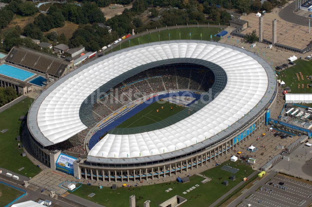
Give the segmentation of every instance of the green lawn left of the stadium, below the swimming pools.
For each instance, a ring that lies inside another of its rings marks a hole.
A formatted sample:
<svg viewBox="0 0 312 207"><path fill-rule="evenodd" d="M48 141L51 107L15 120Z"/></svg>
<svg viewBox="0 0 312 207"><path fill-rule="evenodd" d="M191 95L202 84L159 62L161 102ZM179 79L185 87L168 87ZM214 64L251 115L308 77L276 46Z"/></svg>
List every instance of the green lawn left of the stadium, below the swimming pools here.
<svg viewBox="0 0 312 207"><path fill-rule="evenodd" d="M16 141L21 130L21 121L18 119L26 115L30 101L30 98L24 99L0 113L0 130L8 129L7 132L0 133L0 167L21 175L27 173L27 177L33 177L41 171L27 157L22 157L23 150L17 147L17 144L21 142ZM22 167L25 169L18 171Z"/></svg>

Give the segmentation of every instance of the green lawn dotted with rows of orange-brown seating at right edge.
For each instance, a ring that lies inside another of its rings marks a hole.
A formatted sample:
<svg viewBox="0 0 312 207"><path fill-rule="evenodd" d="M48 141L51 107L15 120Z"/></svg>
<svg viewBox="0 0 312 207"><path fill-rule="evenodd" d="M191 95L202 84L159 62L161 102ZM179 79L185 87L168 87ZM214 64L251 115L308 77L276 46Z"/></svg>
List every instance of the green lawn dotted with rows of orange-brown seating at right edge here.
<svg viewBox="0 0 312 207"><path fill-rule="evenodd" d="M312 93L312 87L307 88L307 84L312 84L311 79L306 79L306 75L312 75L312 61L306 60L295 60L294 66L287 68L278 75L278 79L283 80L285 82L285 86L290 87L290 92L292 94L308 94ZM301 79L299 72L302 73L303 79ZM277 72L278 73L278 72ZM298 73L300 81L298 81L296 73ZM300 84L300 88L298 89L298 84ZM304 89L301 88L301 84L304 84Z"/></svg>

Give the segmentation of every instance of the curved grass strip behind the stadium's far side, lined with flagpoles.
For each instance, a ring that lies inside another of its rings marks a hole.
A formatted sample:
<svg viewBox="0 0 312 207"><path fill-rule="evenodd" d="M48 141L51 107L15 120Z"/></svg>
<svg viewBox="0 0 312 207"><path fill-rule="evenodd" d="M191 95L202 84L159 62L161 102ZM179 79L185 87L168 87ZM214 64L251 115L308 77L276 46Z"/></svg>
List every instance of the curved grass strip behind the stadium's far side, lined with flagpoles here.
<svg viewBox="0 0 312 207"><path fill-rule="evenodd" d="M171 30L163 30L160 32L153 32L151 34L147 34L147 35L137 35L138 37L132 38L129 41L124 41L123 43L121 43L121 46L112 46L112 49L106 49L105 50L105 54L110 53L111 50L113 51L118 51L124 48L127 48L129 46L135 46L135 45L139 45L139 44L145 44L145 43L149 43L149 42L157 42L157 41L165 41L165 40L169 40L169 33L170 33L170 40L208 40L210 41L210 35L212 35L212 40L213 41L219 41L220 38L217 36L214 36L215 34L217 34L219 31L222 31L222 29L220 29L219 27L190 27L190 28L179 28L179 29L171 29ZM191 36L190 36L190 32L191 32ZM202 33L202 37L200 36L200 34ZM180 34L180 35L179 35ZM158 36L159 35L159 36ZM181 36L181 38L180 38ZM227 38L227 37L223 37L223 38Z"/></svg>

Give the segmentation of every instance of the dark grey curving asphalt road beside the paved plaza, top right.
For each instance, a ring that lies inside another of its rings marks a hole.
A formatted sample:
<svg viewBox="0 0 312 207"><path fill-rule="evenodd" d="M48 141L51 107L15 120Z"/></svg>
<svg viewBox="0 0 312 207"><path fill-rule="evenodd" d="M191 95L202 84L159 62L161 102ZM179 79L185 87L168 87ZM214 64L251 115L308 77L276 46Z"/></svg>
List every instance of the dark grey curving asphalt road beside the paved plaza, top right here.
<svg viewBox="0 0 312 207"><path fill-rule="evenodd" d="M297 15L294 13L296 7L296 1L290 3L288 6L280 10L278 13L278 16L285 20L286 22L291 22L294 24L299 24L302 26L308 26L309 25L309 18L303 17L300 15Z"/></svg>

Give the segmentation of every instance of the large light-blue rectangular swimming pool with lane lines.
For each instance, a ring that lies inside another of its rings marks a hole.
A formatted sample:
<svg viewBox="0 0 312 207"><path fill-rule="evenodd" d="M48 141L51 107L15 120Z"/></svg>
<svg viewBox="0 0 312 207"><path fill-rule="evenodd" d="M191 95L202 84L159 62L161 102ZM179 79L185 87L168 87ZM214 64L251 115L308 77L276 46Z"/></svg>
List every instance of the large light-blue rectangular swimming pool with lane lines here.
<svg viewBox="0 0 312 207"><path fill-rule="evenodd" d="M18 69L16 67L2 64L0 65L0 74L9 76L11 78L26 80L27 78L35 75L34 73L28 72L26 70Z"/></svg>

